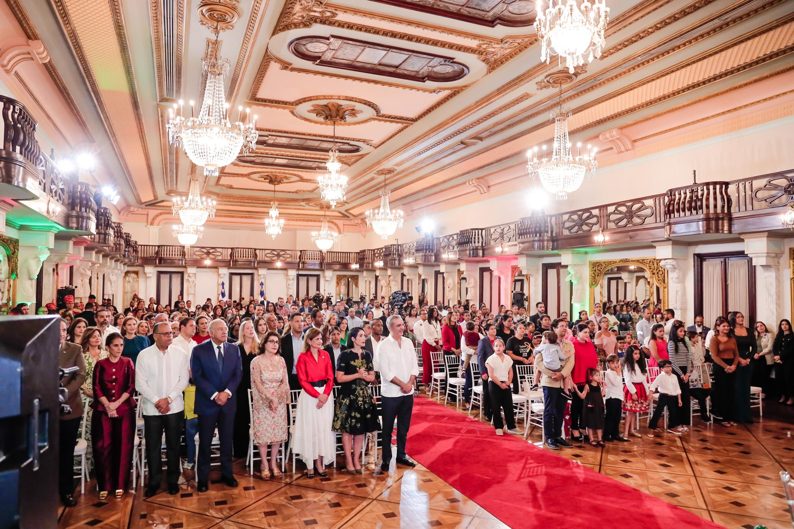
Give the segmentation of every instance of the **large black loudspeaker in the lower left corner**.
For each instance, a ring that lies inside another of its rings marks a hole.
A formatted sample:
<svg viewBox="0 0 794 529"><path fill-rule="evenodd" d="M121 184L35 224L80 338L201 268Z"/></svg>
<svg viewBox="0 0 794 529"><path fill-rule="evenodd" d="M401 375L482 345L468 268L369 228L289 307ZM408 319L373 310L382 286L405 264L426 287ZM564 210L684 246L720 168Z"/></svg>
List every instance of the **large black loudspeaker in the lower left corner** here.
<svg viewBox="0 0 794 529"><path fill-rule="evenodd" d="M58 524L60 318L0 318L0 529Z"/></svg>

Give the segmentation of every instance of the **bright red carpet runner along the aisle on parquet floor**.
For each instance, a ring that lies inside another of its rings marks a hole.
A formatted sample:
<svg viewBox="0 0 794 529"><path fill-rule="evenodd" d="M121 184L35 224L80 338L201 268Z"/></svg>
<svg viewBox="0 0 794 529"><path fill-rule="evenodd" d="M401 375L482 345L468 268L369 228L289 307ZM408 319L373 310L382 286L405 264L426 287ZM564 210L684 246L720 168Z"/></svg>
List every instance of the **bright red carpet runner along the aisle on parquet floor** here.
<svg viewBox="0 0 794 529"><path fill-rule="evenodd" d="M407 452L514 529L721 527L425 397Z"/></svg>

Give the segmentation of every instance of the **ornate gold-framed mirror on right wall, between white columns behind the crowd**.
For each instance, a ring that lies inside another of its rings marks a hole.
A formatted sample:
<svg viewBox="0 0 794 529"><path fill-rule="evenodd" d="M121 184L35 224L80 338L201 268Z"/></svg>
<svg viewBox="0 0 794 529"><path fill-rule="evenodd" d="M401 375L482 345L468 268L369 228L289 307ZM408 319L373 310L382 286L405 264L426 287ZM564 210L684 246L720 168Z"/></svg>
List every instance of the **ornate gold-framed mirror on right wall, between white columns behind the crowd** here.
<svg viewBox="0 0 794 529"><path fill-rule="evenodd" d="M654 304L660 303L662 309L667 308L667 270L665 270L659 259L607 259L603 261L590 261L590 311L592 314L596 302L610 299L617 302L626 296L619 295L620 282L616 281L618 295L616 299L611 299L611 286L607 285L607 297L604 297L604 282L615 278L620 279L626 285L633 286L634 298L642 302L643 299L650 299ZM626 278L630 276L630 282ZM794 283L792 283L794 285ZM596 296L596 287L598 295ZM624 287L625 288L625 287ZM642 289L642 292L640 292ZM626 292L626 290L624 290ZM628 294L626 292L626 294ZM632 296L628 296L632 297Z"/></svg>

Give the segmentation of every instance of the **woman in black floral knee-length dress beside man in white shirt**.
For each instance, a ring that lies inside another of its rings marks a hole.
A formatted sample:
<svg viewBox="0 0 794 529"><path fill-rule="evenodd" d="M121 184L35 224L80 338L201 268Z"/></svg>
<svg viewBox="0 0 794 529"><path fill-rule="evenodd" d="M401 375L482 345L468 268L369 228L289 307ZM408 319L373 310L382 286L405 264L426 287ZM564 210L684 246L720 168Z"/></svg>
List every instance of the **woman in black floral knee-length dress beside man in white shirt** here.
<svg viewBox="0 0 794 529"><path fill-rule="evenodd" d="M341 351L337 358L339 396L333 416L333 431L342 434L345 466L348 473L352 474L364 473L360 461L364 435L380 430L375 401L369 389L370 382L375 380L375 370L372 367L372 355L364 351L366 341L364 329L351 329L348 337L350 349Z"/></svg>

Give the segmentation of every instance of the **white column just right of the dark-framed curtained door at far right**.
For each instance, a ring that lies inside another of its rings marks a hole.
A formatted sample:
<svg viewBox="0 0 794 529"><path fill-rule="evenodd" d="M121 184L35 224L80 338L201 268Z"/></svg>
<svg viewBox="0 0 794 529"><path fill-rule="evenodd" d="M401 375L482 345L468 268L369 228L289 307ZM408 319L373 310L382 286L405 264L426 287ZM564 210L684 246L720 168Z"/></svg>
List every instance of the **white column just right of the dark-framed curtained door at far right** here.
<svg viewBox="0 0 794 529"><path fill-rule="evenodd" d="M745 253L750 255L756 267L755 319L763 321L769 328L777 327L777 322L783 317L780 265L784 240L767 233L747 233L741 237L745 241Z"/></svg>

